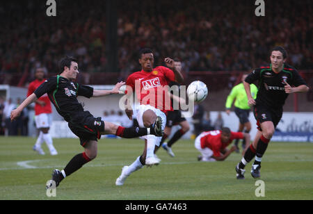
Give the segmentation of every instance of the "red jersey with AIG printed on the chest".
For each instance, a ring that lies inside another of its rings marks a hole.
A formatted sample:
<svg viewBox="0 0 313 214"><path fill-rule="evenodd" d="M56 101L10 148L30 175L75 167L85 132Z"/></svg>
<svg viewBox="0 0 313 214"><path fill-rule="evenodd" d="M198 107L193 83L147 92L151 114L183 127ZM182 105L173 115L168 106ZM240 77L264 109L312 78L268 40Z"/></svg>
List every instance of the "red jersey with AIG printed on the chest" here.
<svg viewBox="0 0 313 214"><path fill-rule="evenodd" d="M171 81L175 81L174 72L167 67L159 66L152 69L152 72L141 70L131 74L126 85L136 92L141 105L154 106L166 113L172 110L167 87Z"/></svg>

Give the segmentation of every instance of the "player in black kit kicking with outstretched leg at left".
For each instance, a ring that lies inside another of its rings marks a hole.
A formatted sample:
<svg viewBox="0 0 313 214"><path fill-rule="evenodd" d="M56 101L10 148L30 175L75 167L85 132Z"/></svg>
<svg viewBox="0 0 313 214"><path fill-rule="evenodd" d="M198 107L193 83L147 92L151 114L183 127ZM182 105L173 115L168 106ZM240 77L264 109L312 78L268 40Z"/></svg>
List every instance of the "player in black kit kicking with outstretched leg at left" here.
<svg viewBox="0 0 313 214"><path fill-rule="evenodd" d="M101 117L93 117L89 111L83 110L77 96L90 98L118 94L120 87L125 83L117 83L113 90L94 90L87 85L72 82L79 73L76 59L66 56L61 59L59 67L61 74L47 79L11 113L11 120L15 120L26 106L47 93L58 113L68 122L72 132L79 137L84 152L74 156L67 163L64 170L54 170L52 181L55 182L56 186L66 176L79 170L84 164L92 161L97 156L97 139L103 134L114 134L122 138L136 138L147 134L163 135L161 118L158 118L150 128L125 128L111 122L104 122ZM53 186L53 182L49 183L47 188L51 188L51 186Z"/></svg>

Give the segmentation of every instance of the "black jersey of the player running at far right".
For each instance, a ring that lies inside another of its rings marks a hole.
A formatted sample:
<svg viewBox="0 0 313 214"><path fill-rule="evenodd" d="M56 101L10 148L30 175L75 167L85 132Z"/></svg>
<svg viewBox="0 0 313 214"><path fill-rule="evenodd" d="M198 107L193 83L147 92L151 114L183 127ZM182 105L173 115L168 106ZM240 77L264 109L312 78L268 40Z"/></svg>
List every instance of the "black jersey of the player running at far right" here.
<svg viewBox="0 0 313 214"><path fill-rule="evenodd" d="M250 84L259 81L257 105L282 108L288 97L288 94L284 92L284 80L291 86L306 85L296 69L287 64L284 64L279 73L275 73L271 65L259 67L249 74L245 81Z"/></svg>

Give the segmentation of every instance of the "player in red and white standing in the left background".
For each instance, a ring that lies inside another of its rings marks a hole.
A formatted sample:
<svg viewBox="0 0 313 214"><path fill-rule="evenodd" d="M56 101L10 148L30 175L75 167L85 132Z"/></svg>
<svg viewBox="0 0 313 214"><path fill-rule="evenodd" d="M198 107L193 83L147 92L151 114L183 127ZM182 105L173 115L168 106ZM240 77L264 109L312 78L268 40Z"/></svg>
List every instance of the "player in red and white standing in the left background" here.
<svg viewBox="0 0 313 214"><path fill-rule="evenodd" d="M29 84L29 90L27 92L27 97L33 94L33 92L45 82L45 72L41 67L35 70L35 80ZM45 152L42 150L42 142L46 142L51 155L57 155L58 152L54 148L53 140L49 134L49 128L51 125L51 104L47 94L44 94L38 100L35 101L35 124L36 128L39 129L40 133L38 136L33 150L37 151L39 154L44 155Z"/></svg>

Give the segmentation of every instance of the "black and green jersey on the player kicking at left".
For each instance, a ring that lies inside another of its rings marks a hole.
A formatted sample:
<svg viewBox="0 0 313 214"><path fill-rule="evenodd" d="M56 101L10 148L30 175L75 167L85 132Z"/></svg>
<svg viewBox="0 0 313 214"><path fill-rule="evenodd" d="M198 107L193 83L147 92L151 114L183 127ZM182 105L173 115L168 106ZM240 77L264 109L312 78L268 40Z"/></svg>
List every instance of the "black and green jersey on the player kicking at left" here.
<svg viewBox="0 0 313 214"><path fill-rule="evenodd" d="M51 76L36 90L37 98L47 93L50 101L56 107L58 113L67 122L83 113L83 106L77 100L77 96L93 97L93 88L87 85L79 85L64 78L63 76Z"/></svg>

